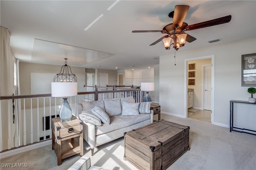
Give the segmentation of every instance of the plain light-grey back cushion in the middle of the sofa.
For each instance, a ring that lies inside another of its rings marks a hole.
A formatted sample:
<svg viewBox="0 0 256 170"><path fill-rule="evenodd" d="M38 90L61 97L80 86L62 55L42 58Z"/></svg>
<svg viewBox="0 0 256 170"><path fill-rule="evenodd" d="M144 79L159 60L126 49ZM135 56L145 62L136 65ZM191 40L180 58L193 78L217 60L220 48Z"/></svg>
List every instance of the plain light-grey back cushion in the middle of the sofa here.
<svg viewBox="0 0 256 170"><path fill-rule="evenodd" d="M109 117L120 115L122 113L122 107L120 99L104 100L105 111Z"/></svg>

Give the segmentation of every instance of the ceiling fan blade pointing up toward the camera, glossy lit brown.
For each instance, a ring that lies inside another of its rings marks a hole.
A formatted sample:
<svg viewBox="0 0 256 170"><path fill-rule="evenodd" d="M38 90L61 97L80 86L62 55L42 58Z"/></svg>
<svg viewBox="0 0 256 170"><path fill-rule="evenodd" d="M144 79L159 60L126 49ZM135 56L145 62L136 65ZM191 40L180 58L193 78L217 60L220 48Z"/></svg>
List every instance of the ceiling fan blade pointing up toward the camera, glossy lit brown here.
<svg viewBox="0 0 256 170"><path fill-rule="evenodd" d="M182 23L188 13L189 6L187 5L176 5L174 8L173 22L172 25L179 27L182 26Z"/></svg>

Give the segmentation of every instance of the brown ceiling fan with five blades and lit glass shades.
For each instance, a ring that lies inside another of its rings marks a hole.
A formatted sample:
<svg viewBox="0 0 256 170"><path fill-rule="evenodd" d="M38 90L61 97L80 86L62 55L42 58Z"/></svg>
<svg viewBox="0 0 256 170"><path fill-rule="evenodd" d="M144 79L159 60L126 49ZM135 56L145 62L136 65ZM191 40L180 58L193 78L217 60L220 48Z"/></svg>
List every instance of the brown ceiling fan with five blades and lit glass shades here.
<svg viewBox="0 0 256 170"><path fill-rule="evenodd" d="M160 41L164 42L165 49L170 49L170 46L173 44L174 49L177 51L180 47L183 47L186 43L191 43L196 40L195 37L188 35L185 31L190 31L194 29L200 29L204 27L210 27L213 25L219 25L222 23L228 23L231 20L231 15L224 16L221 18L216 18L213 20L208 20L200 23L195 23L192 25L188 25L183 22L186 14L188 13L189 6L187 5L176 5L174 11L169 13L169 17L173 18L173 22L166 25L162 30L140 30L140 31L132 31L132 33L143 33L143 32L161 32L166 33L160 39L156 40L154 43L150 45L155 45ZM172 43L171 40L173 39Z"/></svg>

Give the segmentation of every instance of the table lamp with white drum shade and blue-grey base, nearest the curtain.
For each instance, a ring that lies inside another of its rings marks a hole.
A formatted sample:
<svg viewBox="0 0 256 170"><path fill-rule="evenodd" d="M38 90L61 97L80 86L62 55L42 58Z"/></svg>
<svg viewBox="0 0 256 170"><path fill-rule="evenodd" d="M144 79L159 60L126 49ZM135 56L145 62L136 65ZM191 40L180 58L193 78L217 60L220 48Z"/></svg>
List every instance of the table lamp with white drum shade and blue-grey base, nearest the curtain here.
<svg viewBox="0 0 256 170"><path fill-rule="evenodd" d="M52 82L52 97L63 97L64 101L60 106L60 119L62 122L70 121L72 109L68 104L68 96L77 95L77 82Z"/></svg>

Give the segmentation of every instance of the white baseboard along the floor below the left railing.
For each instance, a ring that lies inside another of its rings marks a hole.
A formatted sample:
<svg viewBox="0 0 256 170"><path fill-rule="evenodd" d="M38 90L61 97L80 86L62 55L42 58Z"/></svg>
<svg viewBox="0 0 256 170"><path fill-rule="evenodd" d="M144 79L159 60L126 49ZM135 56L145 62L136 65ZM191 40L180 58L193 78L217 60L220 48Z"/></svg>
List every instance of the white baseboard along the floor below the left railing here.
<svg viewBox="0 0 256 170"><path fill-rule="evenodd" d="M52 145L52 140L47 140L47 141L35 143L35 144L32 144L32 145L28 145L28 146L25 146L25 147L20 147L20 148L17 148L17 149L8 150L6 152L0 153L0 155L1 155L1 158L6 158L6 157L9 157L9 156L13 156L15 154L18 154L18 153L22 153L22 152L26 152L26 151L29 151L29 150L45 147L47 145Z"/></svg>

